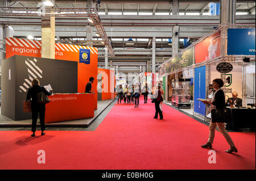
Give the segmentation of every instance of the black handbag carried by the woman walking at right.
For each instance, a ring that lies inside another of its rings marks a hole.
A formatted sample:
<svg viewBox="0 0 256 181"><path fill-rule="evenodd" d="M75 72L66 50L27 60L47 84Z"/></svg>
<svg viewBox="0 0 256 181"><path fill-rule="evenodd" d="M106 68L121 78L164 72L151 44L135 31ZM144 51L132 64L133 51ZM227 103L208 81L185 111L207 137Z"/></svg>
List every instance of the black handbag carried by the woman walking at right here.
<svg viewBox="0 0 256 181"><path fill-rule="evenodd" d="M213 109L210 111L212 115L212 123L232 123L233 116L230 108Z"/></svg>

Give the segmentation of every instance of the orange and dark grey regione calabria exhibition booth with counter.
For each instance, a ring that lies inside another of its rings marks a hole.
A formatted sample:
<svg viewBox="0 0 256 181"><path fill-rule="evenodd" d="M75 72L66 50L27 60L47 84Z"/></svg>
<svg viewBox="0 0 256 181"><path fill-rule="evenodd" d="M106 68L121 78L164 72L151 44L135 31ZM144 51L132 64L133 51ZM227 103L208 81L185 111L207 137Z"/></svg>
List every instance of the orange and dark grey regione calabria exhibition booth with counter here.
<svg viewBox="0 0 256 181"><path fill-rule="evenodd" d="M32 79L38 78L41 86L51 85L54 92L46 104L46 123L94 117L97 66L98 49L94 47L55 43L55 59L41 58L40 41L7 37L6 59L1 65L1 114L15 121L31 119L31 112L23 112L23 100ZM114 77L111 70L106 71ZM85 94L90 77L94 77L94 94ZM110 92L111 86L106 87ZM102 100L110 98L102 92Z"/></svg>

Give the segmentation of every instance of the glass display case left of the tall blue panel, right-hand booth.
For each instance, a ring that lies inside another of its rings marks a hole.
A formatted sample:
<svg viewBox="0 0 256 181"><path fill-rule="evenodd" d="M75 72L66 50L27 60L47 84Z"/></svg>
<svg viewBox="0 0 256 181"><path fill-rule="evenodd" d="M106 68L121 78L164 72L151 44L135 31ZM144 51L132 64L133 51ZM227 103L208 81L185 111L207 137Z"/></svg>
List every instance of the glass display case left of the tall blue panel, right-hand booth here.
<svg viewBox="0 0 256 181"><path fill-rule="evenodd" d="M191 95L189 82L191 79L177 79L175 82L174 95L175 107L191 108Z"/></svg>

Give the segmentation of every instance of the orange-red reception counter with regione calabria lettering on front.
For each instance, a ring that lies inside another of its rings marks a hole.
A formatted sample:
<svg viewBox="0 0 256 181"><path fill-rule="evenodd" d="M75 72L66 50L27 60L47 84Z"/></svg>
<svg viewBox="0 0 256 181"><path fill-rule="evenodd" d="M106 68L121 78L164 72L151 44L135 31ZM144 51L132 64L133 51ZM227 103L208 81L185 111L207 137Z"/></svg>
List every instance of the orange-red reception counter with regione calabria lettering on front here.
<svg viewBox="0 0 256 181"><path fill-rule="evenodd" d="M94 94L54 94L48 96L45 123L94 117Z"/></svg>

